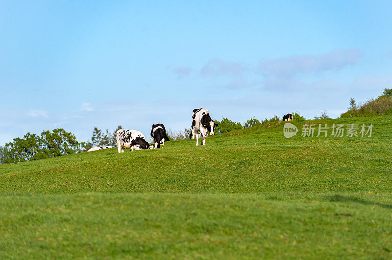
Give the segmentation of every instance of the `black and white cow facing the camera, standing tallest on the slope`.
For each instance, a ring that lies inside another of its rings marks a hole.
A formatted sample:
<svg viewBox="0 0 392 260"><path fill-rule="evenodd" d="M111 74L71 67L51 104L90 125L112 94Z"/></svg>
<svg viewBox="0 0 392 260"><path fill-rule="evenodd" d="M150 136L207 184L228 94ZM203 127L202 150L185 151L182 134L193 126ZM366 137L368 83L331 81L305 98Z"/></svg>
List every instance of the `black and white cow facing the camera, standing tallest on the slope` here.
<svg viewBox="0 0 392 260"><path fill-rule="evenodd" d="M201 133L202 137L201 145L205 145L205 138L208 132L214 135L214 128L217 126L218 124L214 123L206 108L193 109L191 131L193 137L195 138L196 136L196 145L199 145L199 133Z"/></svg>

